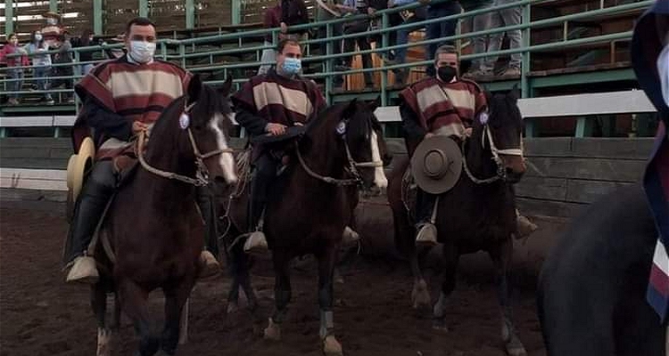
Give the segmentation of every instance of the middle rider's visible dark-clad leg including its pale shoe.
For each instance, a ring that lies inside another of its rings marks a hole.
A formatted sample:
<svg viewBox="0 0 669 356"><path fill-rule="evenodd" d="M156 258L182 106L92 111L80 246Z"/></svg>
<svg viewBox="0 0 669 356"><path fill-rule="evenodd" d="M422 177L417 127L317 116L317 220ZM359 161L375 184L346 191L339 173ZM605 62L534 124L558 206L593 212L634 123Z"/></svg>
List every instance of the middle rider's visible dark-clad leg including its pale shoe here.
<svg viewBox="0 0 669 356"><path fill-rule="evenodd" d="M266 151L254 164L255 172L251 178L251 201L249 202L248 232L249 238L244 245L244 251L254 248L267 248L267 239L262 232L260 220L268 200L269 187L277 176L277 159Z"/></svg>

